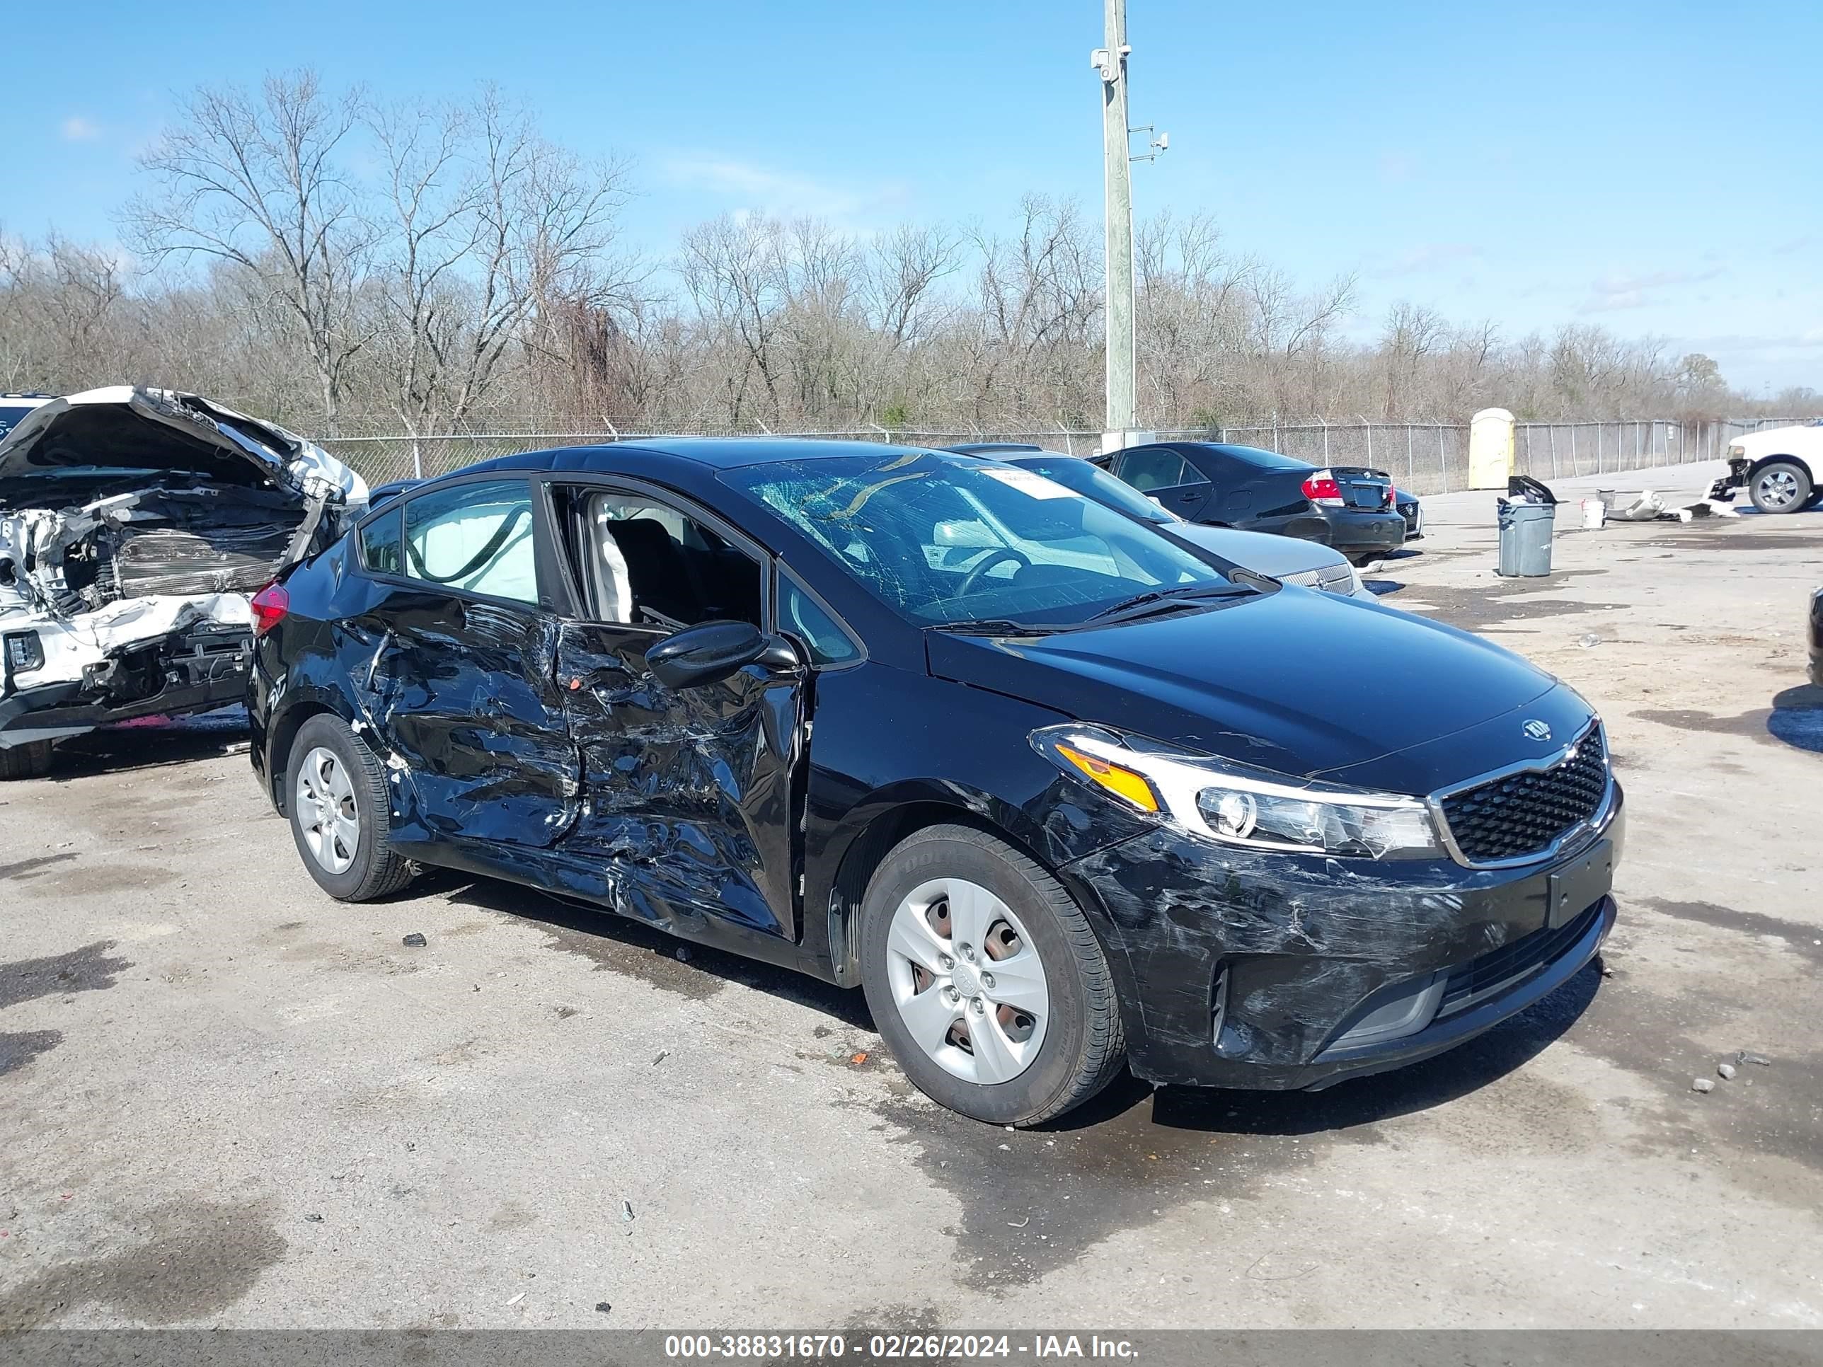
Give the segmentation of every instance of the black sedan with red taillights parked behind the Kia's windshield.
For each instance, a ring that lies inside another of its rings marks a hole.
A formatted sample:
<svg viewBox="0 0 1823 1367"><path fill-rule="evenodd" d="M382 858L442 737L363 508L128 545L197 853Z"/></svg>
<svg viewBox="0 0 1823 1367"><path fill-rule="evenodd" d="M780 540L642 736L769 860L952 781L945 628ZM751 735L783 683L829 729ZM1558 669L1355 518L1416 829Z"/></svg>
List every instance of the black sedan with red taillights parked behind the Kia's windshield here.
<svg viewBox="0 0 1823 1367"><path fill-rule="evenodd" d="M1189 521L1322 541L1365 563L1406 541L1393 479L1223 441L1127 447L1096 463Z"/></svg>

